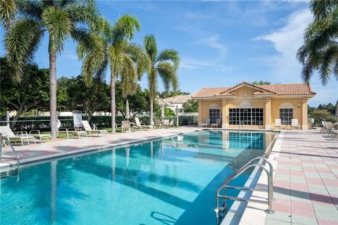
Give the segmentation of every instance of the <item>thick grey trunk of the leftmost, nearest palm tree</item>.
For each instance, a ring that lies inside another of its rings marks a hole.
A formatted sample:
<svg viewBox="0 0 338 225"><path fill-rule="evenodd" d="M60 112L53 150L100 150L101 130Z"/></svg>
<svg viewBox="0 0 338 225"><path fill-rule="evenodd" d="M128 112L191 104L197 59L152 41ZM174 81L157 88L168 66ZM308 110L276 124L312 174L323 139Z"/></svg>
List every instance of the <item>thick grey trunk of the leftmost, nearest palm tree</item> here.
<svg viewBox="0 0 338 225"><path fill-rule="evenodd" d="M49 53L49 112L51 113L51 137L56 139L56 53Z"/></svg>

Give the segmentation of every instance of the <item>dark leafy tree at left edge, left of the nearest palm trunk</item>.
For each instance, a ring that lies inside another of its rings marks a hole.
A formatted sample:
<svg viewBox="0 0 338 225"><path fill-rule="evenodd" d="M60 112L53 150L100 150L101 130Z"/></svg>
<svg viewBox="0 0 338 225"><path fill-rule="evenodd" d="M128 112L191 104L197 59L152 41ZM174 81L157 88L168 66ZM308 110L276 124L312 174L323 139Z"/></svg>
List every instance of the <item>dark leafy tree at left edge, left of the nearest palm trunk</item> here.
<svg viewBox="0 0 338 225"><path fill-rule="evenodd" d="M39 108L48 108L49 101L49 71L39 69L36 64L28 64L23 69L23 79L20 83L11 79L11 68L4 57L0 58L1 108L15 110L13 120L20 115Z"/></svg>

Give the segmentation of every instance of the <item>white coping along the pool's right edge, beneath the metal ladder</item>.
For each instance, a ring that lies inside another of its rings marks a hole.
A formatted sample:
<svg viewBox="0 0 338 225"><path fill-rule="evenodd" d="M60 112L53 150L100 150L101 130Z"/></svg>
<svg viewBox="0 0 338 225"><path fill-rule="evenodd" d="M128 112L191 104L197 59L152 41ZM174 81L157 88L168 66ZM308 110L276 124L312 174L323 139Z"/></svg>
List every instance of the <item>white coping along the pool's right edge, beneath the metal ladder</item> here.
<svg viewBox="0 0 338 225"><path fill-rule="evenodd" d="M271 131L271 130L270 130ZM273 176L275 176L275 170L277 167L277 160L280 152L281 140L284 136L284 131L282 130L274 130L276 135L271 141L268 148L265 150L265 153L262 155L266 158L268 156L268 161L273 164ZM277 132L279 131L279 132ZM275 160L277 158L277 160ZM260 161L261 162L261 161ZM259 168L256 167L253 169L253 172L249 176L249 179L246 181L244 186L249 188L256 188L258 185L267 184L267 175L265 173L259 172ZM240 198L251 198L254 195L258 198L266 198L267 193L257 192L257 191L240 191L237 197ZM255 214L253 212L249 212L247 207L255 207ZM221 225L235 225L235 224L265 224L266 213L263 210L266 210L268 205L262 203L247 203L242 201L234 201L230 210L227 212L223 221L221 221ZM259 214L256 211L259 209Z"/></svg>

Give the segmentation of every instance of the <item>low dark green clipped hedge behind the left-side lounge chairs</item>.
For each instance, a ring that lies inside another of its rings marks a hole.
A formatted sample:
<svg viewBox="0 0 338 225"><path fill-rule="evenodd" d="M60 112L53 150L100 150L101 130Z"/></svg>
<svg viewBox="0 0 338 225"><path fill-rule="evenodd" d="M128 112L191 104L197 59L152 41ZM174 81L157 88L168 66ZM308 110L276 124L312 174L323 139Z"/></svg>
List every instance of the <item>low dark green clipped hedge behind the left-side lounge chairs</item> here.
<svg viewBox="0 0 338 225"><path fill-rule="evenodd" d="M145 124L149 124L149 116L137 116L139 120ZM165 119L174 120L176 124L175 117L165 117ZM10 119L13 120L13 117ZM25 120L28 120L25 122ZM34 121L32 121L34 120ZM11 122L11 128L13 131L30 131L32 129L39 129L40 131L49 131L50 129L50 118L49 117L19 117L18 121L20 122ZM73 127L73 117L58 117L58 120L61 120L61 127L69 128ZM121 124L125 120L123 116L116 116L116 124ZM179 117L179 125L185 126L190 124L197 124L197 116L194 115L182 115ZM111 117L110 116L93 116L90 124L95 124L96 127L111 127ZM4 125L4 124L0 124Z"/></svg>

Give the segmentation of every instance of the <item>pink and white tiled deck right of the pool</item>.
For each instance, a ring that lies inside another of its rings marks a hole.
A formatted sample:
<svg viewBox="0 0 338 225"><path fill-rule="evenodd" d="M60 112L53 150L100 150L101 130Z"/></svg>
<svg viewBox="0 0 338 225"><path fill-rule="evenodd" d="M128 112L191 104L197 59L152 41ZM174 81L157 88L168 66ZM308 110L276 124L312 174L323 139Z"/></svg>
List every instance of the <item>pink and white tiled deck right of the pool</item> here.
<svg viewBox="0 0 338 225"><path fill-rule="evenodd" d="M282 131L271 155L275 214L249 203L240 224L338 224L338 140L319 129Z"/></svg>

